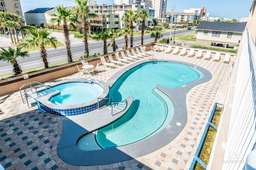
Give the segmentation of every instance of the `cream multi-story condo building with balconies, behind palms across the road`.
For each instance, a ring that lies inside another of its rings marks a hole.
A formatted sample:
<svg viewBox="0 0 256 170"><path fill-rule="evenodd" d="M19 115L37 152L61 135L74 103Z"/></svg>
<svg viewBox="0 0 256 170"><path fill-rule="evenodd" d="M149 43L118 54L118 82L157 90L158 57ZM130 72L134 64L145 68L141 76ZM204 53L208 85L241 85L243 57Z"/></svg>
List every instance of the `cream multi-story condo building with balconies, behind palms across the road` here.
<svg viewBox="0 0 256 170"><path fill-rule="evenodd" d="M97 17L90 18L92 30L103 30L107 28L121 29L128 24L121 20L124 13L128 10L139 12L146 9L149 12L149 6L146 3L141 4L112 4L112 5L95 5L90 6L90 12L97 14ZM140 21L134 22L134 31L141 30L142 23ZM146 21L146 25L148 22Z"/></svg>

